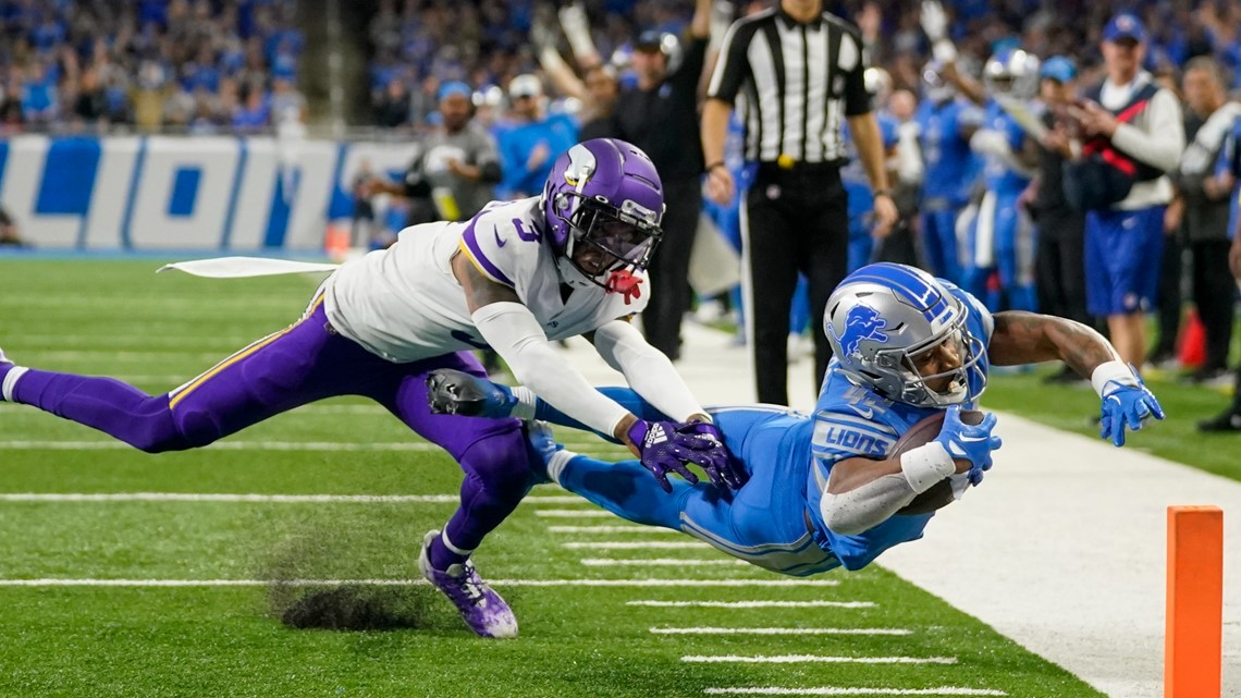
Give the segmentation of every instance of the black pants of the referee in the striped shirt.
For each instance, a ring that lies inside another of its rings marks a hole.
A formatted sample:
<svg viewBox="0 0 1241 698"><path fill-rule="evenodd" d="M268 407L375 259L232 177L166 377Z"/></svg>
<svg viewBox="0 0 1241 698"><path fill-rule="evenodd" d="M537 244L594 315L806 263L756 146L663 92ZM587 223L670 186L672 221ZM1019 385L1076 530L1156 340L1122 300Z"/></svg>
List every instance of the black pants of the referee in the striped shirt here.
<svg viewBox="0 0 1241 698"><path fill-rule="evenodd" d="M750 258L746 315L758 401L788 405L788 313L797 273L810 286L814 391L831 347L823 333L828 296L845 277L849 256L848 195L839 168L759 168L746 199L743 229Z"/></svg>

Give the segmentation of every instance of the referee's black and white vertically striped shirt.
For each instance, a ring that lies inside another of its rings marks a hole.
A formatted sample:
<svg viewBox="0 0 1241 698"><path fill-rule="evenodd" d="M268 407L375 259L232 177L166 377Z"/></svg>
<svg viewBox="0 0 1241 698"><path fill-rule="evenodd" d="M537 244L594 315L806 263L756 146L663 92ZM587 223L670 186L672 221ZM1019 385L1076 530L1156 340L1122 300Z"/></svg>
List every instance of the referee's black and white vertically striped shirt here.
<svg viewBox="0 0 1241 698"><path fill-rule="evenodd" d="M871 111L861 47L835 15L802 24L773 7L728 27L707 97L731 104L742 94L746 160L843 161L844 117Z"/></svg>

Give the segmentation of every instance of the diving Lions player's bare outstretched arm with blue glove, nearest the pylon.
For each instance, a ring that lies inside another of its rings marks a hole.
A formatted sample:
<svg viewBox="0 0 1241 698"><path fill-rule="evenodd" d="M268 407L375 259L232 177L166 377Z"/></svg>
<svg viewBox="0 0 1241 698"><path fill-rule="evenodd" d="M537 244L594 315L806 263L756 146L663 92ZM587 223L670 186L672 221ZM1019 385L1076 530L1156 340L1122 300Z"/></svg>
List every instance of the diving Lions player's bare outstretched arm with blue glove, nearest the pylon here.
<svg viewBox="0 0 1241 698"><path fill-rule="evenodd" d="M1061 360L1088 378L1103 400L1100 436L1124 445L1124 431L1137 431L1163 407L1132 366L1121 361L1112 344L1078 322L1039 313L995 313L988 358L998 366Z"/></svg>

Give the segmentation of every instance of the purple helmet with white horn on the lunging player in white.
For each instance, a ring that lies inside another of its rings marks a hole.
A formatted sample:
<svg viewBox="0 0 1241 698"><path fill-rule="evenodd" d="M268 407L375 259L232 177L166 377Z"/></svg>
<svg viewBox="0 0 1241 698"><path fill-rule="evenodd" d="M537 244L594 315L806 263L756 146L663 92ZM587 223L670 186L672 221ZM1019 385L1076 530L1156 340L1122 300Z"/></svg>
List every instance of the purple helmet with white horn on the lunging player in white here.
<svg viewBox="0 0 1241 698"><path fill-rule="evenodd" d="M578 143L557 158L542 207L556 265L572 286L607 288L612 272L644 270L663 235L659 173L638 147L616 138ZM573 258L583 246L597 252L597 268Z"/></svg>

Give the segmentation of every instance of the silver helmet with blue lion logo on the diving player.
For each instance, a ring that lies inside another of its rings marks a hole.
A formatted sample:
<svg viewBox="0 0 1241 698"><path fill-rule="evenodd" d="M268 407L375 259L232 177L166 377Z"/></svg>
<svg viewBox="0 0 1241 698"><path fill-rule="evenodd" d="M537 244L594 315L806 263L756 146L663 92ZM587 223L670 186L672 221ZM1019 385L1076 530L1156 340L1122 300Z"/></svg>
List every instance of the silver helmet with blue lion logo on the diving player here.
<svg viewBox="0 0 1241 698"><path fill-rule="evenodd" d="M882 397L918 407L947 407L982 394L984 347L965 325L969 309L934 277L905 265L867 265L828 298L824 332L840 369ZM948 343L961 363L922 375L928 351ZM927 384L949 379L944 390Z"/></svg>

